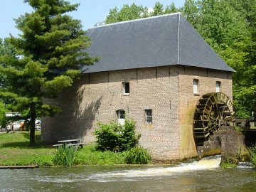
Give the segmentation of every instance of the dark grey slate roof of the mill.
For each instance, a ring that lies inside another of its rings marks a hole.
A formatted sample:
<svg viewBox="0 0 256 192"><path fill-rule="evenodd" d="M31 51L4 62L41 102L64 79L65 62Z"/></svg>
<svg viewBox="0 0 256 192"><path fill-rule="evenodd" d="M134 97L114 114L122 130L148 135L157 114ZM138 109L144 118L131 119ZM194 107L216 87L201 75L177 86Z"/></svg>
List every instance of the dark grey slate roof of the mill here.
<svg viewBox="0 0 256 192"><path fill-rule="evenodd" d="M82 73L188 65L234 72L180 13L112 23L87 30L90 56Z"/></svg>

